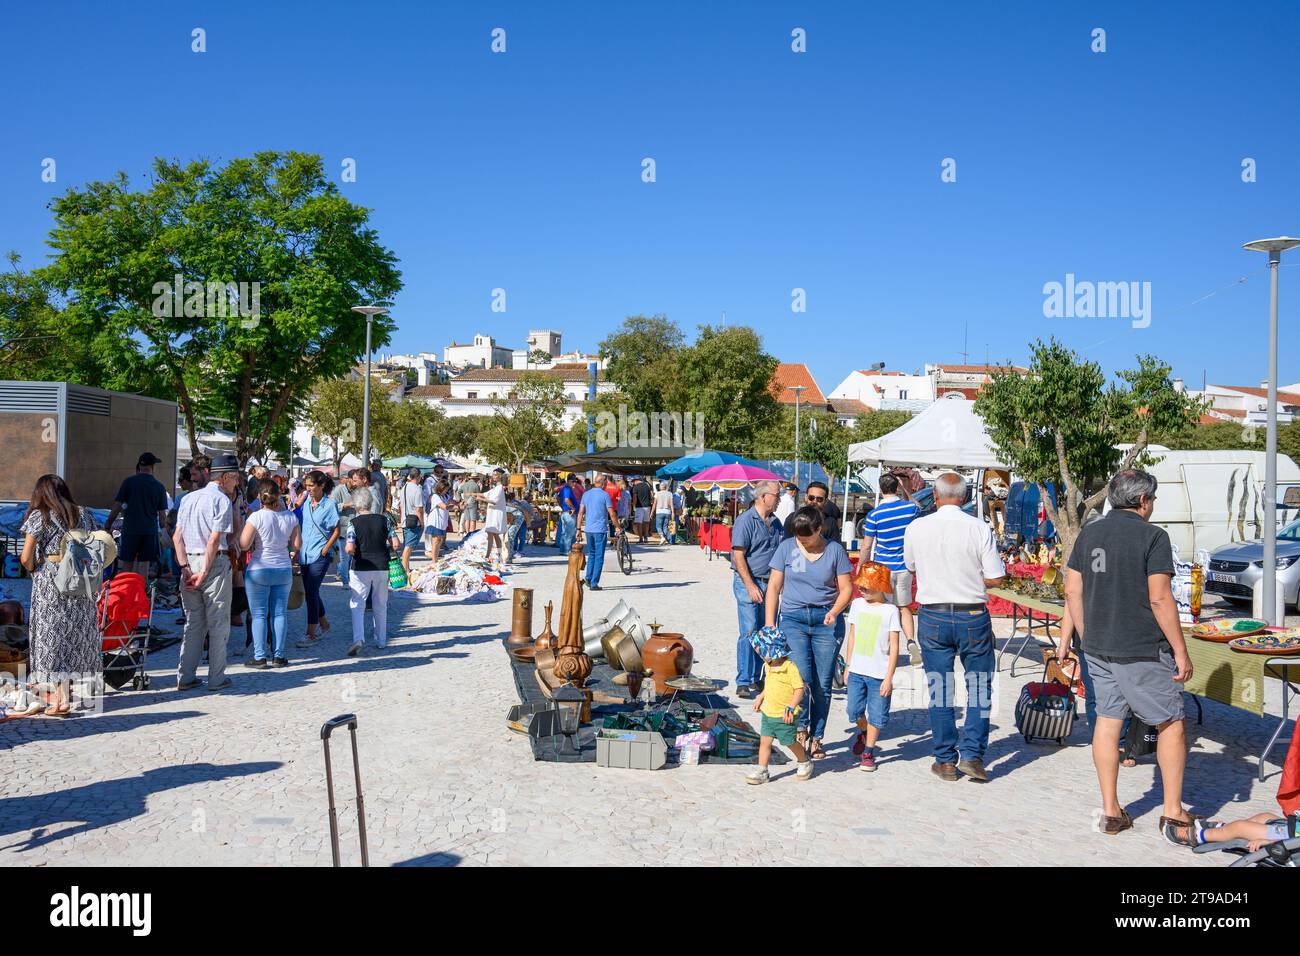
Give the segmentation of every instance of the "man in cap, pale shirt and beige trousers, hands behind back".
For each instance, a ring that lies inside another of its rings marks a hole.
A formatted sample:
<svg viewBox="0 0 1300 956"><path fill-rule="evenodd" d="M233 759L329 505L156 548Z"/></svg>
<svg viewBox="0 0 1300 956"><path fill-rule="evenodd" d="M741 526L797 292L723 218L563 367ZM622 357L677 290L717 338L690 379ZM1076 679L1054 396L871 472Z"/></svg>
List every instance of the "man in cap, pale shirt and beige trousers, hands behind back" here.
<svg viewBox="0 0 1300 956"><path fill-rule="evenodd" d="M195 471L199 473L195 475ZM211 468L191 463L190 475L203 486L185 496L176 516L173 542L181 566L181 604L185 606L177 689L188 691L199 685L199 659L203 639L207 637L208 689L221 691L230 687L230 678L226 676L231 598L228 549L234 532L230 502L239 488L239 462L234 455L218 455Z"/></svg>

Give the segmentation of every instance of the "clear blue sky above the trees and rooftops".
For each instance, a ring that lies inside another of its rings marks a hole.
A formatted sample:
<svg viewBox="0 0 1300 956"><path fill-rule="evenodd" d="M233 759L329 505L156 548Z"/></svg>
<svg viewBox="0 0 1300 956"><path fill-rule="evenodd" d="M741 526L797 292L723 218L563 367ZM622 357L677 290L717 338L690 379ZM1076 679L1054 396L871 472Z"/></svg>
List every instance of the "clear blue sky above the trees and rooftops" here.
<svg viewBox="0 0 1300 956"><path fill-rule="evenodd" d="M725 310L826 390L958 362L965 326L972 362L1056 333L1108 371L1141 351L1190 386L1258 384L1265 256L1240 246L1300 234L1295 3L55 1L5 21L0 247L44 261L53 195L155 155L354 157L342 189L402 260L398 350L529 328L594 349L629 313L689 333ZM1149 281L1150 326L1045 319L1066 273ZM1284 265L1283 382L1297 303Z"/></svg>

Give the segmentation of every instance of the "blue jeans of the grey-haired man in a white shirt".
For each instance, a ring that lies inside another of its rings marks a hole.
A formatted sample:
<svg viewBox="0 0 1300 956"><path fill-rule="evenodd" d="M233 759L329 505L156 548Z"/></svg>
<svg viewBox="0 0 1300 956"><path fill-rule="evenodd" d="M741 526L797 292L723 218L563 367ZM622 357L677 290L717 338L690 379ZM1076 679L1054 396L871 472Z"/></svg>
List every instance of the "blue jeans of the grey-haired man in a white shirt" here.
<svg viewBox="0 0 1300 956"><path fill-rule="evenodd" d="M958 756L962 760L983 760L993 708L993 622L988 610L937 611L922 606L916 618L916 640L930 688L935 762L956 763ZM966 671L966 722L959 743L953 708L957 693L953 665L958 656Z"/></svg>

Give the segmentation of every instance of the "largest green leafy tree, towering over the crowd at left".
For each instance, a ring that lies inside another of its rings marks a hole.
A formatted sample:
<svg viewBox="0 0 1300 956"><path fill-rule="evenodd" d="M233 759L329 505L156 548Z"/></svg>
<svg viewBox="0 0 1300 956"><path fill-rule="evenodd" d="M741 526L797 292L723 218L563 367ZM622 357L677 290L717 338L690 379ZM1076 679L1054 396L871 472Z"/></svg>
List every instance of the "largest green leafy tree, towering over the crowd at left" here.
<svg viewBox="0 0 1300 956"><path fill-rule="evenodd" d="M402 287L368 211L343 198L320 156L159 159L143 189L120 173L52 209L56 259L43 273L66 297L69 333L99 329L105 352L161 382L191 445L204 415L229 421L242 462L318 380L360 358L365 321L350 308ZM373 328L386 345L391 319Z"/></svg>

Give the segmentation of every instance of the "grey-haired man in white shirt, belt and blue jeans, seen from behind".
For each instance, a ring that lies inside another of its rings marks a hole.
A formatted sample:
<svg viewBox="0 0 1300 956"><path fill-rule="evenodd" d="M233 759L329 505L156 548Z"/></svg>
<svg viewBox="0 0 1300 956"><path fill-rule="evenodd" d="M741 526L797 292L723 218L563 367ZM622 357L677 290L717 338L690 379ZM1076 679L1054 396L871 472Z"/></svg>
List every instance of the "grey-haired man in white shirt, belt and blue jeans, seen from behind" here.
<svg viewBox="0 0 1300 956"><path fill-rule="evenodd" d="M987 588L1006 578L993 529L962 511L966 480L945 472L935 480L939 510L918 518L904 536L904 563L916 575L920 615L916 637L930 687L930 728L935 739L931 771L956 780L958 771L987 783L984 750L993 691L993 622ZM953 709L953 663L966 672L966 722L961 740Z"/></svg>

